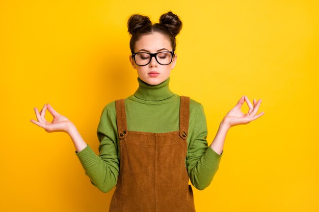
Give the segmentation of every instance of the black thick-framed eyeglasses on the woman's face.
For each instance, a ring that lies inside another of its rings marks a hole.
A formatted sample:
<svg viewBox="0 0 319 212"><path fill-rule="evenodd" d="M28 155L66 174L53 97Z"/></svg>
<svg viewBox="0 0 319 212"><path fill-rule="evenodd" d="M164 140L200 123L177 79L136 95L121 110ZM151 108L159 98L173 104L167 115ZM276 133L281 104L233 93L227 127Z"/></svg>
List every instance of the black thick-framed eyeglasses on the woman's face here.
<svg viewBox="0 0 319 212"><path fill-rule="evenodd" d="M146 66L151 62L152 57L155 57L158 64L166 66L172 63L173 55L174 51L161 51L157 53L132 52L132 57L134 58L134 61L138 66Z"/></svg>

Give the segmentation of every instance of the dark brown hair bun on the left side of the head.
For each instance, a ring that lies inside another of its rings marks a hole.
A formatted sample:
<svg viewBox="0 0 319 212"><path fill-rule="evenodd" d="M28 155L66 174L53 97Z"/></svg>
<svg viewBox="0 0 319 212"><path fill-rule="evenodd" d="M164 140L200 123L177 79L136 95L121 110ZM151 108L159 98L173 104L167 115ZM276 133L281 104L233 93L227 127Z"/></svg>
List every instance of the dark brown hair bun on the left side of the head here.
<svg viewBox="0 0 319 212"><path fill-rule="evenodd" d="M152 22L148 16L133 14L127 21L127 32L129 32L131 35L134 35L139 31L139 29L151 26Z"/></svg>

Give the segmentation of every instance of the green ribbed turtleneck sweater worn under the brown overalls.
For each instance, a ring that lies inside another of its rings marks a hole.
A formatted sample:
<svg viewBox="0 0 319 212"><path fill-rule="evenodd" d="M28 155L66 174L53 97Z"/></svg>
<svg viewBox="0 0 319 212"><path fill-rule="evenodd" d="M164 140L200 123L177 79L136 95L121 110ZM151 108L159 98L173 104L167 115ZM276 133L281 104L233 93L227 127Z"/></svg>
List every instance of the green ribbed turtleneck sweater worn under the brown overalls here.
<svg viewBox="0 0 319 212"><path fill-rule="evenodd" d="M161 84L150 85L138 77L138 89L134 95L125 99L128 131L165 133L179 130L180 96L170 90L169 81L170 77ZM113 101L104 106L100 116L97 128L99 155L96 155L89 145L79 153L75 151L91 183L105 193L116 185L119 175L120 145L117 132ZM198 190L209 186L222 157L222 154L217 154L207 145L206 137L207 125L203 106L190 99L185 167L192 185Z"/></svg>

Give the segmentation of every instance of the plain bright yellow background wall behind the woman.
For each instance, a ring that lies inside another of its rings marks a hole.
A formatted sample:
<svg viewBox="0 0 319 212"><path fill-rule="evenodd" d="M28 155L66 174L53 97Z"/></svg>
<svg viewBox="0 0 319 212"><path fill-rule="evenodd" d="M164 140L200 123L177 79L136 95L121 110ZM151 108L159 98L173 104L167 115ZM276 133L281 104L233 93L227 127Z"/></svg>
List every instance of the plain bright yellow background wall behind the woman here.
<svg viewBox="0 0 319 212"><path fill-rule="evenodd" d="M31 123L33 108L50 103L98 154L102 108L138 86L126 21L169 10L183 21L170 88L203 104L208 144L242 95L265 112L229 130L210 186L194 189L196 210L318 211L318 6L1 1L0 211L108 211L115 188L91 185L69 136Z"/></svg>

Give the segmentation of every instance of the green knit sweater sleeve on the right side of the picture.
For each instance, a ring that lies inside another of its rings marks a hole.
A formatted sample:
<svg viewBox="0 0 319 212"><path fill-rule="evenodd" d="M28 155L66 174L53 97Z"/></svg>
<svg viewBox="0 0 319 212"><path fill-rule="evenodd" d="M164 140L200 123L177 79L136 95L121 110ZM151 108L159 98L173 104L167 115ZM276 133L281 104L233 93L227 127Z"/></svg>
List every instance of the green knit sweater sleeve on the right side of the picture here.
<svg viewBox="0 0 319 212"><path fill-rule="evenodd" d="M202 104L198 104L197 110L186 165L193 186L203 190L210 185L217 172L223 152L219 155L207 145L207 124Z"/></svg>

